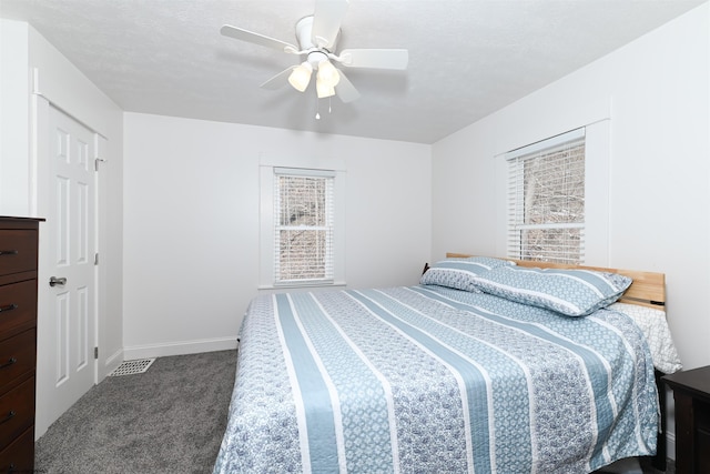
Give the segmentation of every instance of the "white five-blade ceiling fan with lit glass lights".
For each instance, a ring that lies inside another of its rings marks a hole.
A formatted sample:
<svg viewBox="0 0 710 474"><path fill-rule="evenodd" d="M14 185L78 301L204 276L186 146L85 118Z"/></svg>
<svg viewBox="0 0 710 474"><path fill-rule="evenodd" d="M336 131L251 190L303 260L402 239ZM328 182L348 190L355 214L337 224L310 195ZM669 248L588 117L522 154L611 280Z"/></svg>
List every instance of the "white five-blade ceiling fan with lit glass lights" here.
<svg viewBox="0 0 710 474"><path fill-rule="evenodd" d="M262 88L278 89L287 81L303 92L311 82L313 71L316 71L318 99L337 95L343 102L352 102L359 97L359 92L334 63L346 68L405 70L409 54L406 49L344 49L336 54L347 4L348 0L316 0L314 13L296 23L298 47L229 24L223 26L220 32L225 37L305 57L301 64L280 72L261 84Z"/></svg>

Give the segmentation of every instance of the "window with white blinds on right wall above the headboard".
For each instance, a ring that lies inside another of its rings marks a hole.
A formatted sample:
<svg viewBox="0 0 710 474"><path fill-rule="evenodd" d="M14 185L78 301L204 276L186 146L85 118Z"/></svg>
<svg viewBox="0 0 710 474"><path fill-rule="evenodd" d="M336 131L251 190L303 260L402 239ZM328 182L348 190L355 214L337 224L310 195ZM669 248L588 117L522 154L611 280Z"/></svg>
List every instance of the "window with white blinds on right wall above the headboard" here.
<svg viewBox="0 0 710 474"><path fill-rule="evenodd" d="M585 258L585 129L509 152L508 256Z"/></svg>

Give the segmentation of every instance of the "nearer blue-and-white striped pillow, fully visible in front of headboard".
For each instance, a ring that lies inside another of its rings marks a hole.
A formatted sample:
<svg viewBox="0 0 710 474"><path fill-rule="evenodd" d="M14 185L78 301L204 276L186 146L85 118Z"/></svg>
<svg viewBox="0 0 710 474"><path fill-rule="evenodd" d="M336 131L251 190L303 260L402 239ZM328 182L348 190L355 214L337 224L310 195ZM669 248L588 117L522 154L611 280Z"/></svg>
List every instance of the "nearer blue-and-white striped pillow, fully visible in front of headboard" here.
<svg viewBox="0 0 710 474"><path fill-rule="evenodd" d="M500 266L476 275L479 290L568 316L586 316L617 301L631 279L590 270Z"/></svg>

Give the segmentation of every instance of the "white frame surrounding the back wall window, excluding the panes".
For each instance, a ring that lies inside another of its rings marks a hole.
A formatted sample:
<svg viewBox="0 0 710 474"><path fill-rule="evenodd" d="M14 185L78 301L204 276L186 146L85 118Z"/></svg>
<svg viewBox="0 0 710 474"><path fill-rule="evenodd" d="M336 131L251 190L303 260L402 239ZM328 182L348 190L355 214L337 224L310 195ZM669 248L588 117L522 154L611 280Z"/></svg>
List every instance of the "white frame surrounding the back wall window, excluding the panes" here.
<svg viewBox="0 0 710 474"><path fill-rule="evenodd" d="M326 161L326 160L322 160ZM328 165L329 164L329 165ZM341 163L301 160L298 165L260 164L260 290L343 286L345 282L345 178ZM280 282L276 278L276 173L333 177L332 278Z"/></svg>

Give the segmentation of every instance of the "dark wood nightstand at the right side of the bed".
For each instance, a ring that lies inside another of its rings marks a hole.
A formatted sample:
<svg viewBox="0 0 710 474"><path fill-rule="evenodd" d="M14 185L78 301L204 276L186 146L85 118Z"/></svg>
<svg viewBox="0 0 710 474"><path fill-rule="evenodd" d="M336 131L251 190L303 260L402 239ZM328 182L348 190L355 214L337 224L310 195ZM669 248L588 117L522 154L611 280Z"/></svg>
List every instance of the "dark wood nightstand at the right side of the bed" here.
<svg viewBox="0 0 710 474"><path fill-rule="evenodd" d="M676 401L676 472L710 473L710 366L663 376Z"/></svg>

